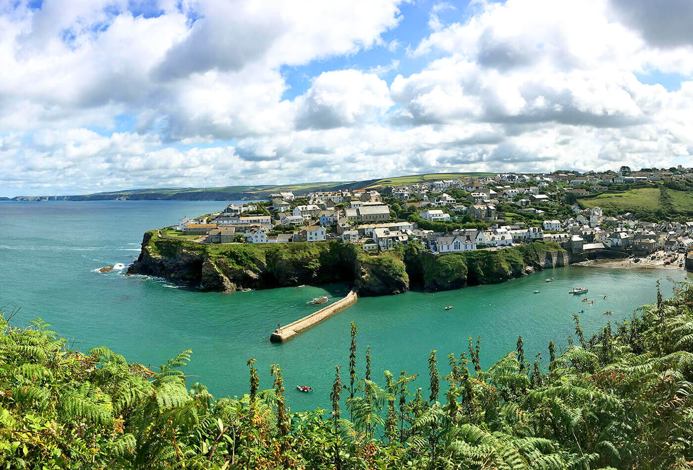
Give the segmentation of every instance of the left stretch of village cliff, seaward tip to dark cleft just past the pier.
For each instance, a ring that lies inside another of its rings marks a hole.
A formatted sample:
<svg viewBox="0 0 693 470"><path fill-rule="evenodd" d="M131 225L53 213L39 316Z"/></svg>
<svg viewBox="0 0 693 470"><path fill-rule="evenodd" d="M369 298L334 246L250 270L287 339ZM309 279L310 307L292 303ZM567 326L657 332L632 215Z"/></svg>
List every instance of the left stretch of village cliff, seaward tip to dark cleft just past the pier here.
<svg viewBox="0 0 693 470"><path fill-rule="evenodd" d="M145 234L128 274L199 284L211 291L354 282L360 296L401 293L409 279L394 253L367 255L340 242L201 245Z"/></svg>

